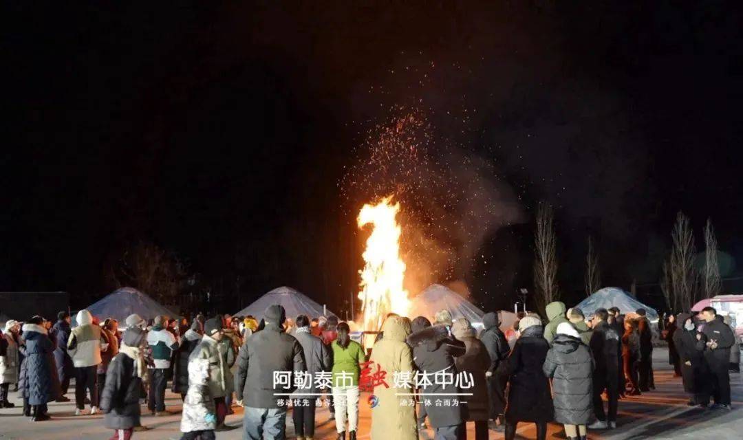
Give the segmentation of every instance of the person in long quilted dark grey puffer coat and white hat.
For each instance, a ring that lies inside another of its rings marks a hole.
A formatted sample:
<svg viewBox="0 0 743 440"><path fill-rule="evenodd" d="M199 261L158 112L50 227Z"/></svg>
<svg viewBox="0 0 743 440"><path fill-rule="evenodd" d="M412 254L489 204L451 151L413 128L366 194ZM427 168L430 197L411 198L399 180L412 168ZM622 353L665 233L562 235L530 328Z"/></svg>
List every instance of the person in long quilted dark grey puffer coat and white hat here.
<svg viewBox="0 0 743 440"><path fill-rule="evenodd" d="M585 426L594 418L594 361L574 326L557 326L543 370L552 378L555 421L565 425L568 439L585 440Z"/></svg>

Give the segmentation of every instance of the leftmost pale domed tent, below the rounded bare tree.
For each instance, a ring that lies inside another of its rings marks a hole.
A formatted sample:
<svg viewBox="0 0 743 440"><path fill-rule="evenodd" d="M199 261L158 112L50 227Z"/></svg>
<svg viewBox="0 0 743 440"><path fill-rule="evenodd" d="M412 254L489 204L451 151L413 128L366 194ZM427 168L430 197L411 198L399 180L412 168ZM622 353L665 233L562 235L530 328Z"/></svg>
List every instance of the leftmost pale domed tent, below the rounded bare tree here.
<svg viewBox="0 0 743 440"><path fill-rule="evenodd" d="M178 315L160 305L158 301L133 287L122 287L113 293L106 295L100 301L85 307L92 315L97 316L100 321L106 318L114 318L123 326L126 317L136 313L143 319L152 319L158 315L167 315L177 318ZM74 319L74 317L73 317Z"/></svg>

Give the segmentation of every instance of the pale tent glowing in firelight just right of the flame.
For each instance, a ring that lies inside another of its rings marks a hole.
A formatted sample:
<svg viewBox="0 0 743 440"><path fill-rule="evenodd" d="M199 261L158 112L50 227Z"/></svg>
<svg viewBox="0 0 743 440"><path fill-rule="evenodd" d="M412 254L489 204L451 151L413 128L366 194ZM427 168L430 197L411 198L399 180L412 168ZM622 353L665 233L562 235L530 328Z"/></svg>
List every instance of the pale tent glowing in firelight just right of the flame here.
<svg viewBox="0 0 743 440"><path fill-rule="evenodd" d="M433 284L412 299L408 316L411 319L425 316L433 321L436 312L442 309L449 310L455 321L467 318L473 324L482 323L482 315L485 314L452 289L441 284Z"/></svg>

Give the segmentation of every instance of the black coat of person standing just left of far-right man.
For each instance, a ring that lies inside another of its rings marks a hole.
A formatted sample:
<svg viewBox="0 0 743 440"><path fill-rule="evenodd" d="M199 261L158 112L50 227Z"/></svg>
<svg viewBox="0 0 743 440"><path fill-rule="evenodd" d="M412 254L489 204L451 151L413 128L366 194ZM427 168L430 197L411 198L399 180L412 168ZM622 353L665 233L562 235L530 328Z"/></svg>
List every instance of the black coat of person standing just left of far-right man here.
<svg viewBox="0 0 743 440"><path fill-rule="evenodd" d="M681 318L684 318L684 320L681 321ZM681 328L674 332L673 343L678 350L678 357L681 361L681 378L684 381L684 391L696 394L706 389L704 384L709 375L707 364L704 361L704 343L706 338L698 341L696 338L696 329L687 330L683 328L687 318L689 318L689 315L679 316ZM691 365L687 365L687 362Z"/></svg>

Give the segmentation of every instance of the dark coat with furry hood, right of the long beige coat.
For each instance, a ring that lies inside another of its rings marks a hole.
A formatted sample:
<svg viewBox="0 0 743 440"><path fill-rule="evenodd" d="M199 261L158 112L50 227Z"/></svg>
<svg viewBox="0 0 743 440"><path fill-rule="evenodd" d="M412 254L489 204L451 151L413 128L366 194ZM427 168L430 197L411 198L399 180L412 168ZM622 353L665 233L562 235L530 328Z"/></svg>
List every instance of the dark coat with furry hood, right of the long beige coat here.
<svg viewBox="0 0 743 440"><path fill-rule="evenodd" d="M418 328L416 326L416 329ZM419 374L425 372L427 377L431 378L432 384L421 389L424 399L426 399L426 395L432 393L461 393L461 390L456 385L447 385L444 387L443 384L436 384L436 381L433 380L433 375L435 372L441 370L452 372L454 375L457 374L454 358L464 355L467 351L464 342L452 338L446 326L437 325L418 329L418 331L409 335L407 343L413 348L413 363ZM453 426L461 424L464 421L466 416L462 413L463 407L435 406L436 399L444 401L455 398L464 401L467 396L441 395L428 397L432 401L432 405L426 407L426 414L428 414L433 427Z"/></svg>

